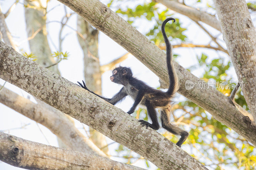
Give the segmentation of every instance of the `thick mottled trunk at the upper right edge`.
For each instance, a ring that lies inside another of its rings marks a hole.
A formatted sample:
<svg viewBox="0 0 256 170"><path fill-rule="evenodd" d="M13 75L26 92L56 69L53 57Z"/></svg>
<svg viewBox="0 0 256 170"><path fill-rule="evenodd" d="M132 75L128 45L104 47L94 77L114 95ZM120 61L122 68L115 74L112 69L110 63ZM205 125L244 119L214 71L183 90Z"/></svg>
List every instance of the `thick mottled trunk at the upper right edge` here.
<svg viewBox="0 0 256 170"><path fill-rule="evenodd" d="M236 70L243 81L242 92L256 120L256 32L244 0L214 0L223 39Z"/></svg>

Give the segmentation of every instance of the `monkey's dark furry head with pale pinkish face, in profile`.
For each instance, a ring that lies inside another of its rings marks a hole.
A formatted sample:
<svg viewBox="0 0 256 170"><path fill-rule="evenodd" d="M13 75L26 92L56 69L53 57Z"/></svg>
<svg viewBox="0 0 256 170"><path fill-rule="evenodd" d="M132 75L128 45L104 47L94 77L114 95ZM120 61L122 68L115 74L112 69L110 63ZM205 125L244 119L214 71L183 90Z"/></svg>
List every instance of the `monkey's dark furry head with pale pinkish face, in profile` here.
<svg viewBox="0 0 256 170"><path fill-rule="evenodd" d="M132 77L132 70L129 67L116 67L112 71L110 80L114 83L124 85L129 78Z"/></svg>

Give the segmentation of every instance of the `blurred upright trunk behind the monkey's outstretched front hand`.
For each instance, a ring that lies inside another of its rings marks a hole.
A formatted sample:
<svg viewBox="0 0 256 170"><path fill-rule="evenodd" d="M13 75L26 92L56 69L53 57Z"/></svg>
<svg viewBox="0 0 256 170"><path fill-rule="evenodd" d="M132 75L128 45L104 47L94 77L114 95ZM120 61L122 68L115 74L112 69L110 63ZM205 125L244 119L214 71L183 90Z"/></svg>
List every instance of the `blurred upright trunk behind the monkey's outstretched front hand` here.
<svg viewBox="0 0 256 170"><path fill-rule="evenodd" d="M84 20L84 18L77 16L77 31L81 33L84 39L77 34L79 44L84 53L84 78L86 86L97 94L101 94L101 72L100 61L98 55L98 35L99 31L92 28L92 26ZM97 130L89 128L90 139L102 151L108 154L108 147L106 137Z"/></svg>

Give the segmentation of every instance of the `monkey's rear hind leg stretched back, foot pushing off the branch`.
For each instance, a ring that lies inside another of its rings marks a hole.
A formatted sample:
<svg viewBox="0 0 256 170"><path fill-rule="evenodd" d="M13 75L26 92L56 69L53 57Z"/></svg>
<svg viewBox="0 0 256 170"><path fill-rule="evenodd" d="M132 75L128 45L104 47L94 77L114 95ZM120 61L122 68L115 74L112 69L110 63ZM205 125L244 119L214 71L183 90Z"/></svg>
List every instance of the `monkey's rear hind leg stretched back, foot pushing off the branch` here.
<svg viewBox="0 0 256 170"><path fill-rule="evenodd" d="M188 132L170 123L170 112L168 111L168 109L161 110L161 122L162 122L162 127L164 129L168 130L174 135L181 136L180 140L176 144L179 147L181 147L181 144L183 144L183 142L185 142L185 140L188 137Z"/></svg>

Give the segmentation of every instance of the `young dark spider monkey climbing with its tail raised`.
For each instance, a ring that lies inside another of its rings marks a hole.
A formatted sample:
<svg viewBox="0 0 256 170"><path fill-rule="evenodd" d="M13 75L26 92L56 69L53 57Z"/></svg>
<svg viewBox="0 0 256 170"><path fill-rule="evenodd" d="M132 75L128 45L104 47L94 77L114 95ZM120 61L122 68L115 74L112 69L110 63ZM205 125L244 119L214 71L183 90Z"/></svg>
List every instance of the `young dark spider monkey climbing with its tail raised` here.
<svg viewBox="0 0 256 170"><path fill-rule="evenodd" d="M157 112L156 112L156 108L159 108L161 113L162 127L174 135L181 136L180 140L177 142L177 145L181 147L181 144L183 144L183 142L188 137L188 132L170 123L170 113L171 113L171 103L172 103L171 99L174 97L174 94L177 92L179 88L177 74L172 64L173 63L172 46L166 36L165 29L164 29L165 24L170 20L173 20L173 22L175 22L174 18L167 18L164 20L162 24L162 29L161 29L162 34L164 36L164 42L166 44L166 62L167 62L167 69L168 69L169 81L170 81L169 88L166 92L163 92L148 86L143 81L133 77L132 70L130 68L121 67L121 66L113 70L112 72L113 74L110 77L110 80L114 83L123 85L123 88L118 93L116 93L114 97L112 97L111 99L104 98L90 91L86 87L84 81L83 81L83 85L80 82L78 82L78 84L84 89L88 90L89 92L92 92L93 94L99 96L100 98L108 101L112 105L115 105L117 102L123 100L127 95L129 95L134 100L134 103L131 109L127 112L129 115L131 115L135 111L135 108L139 104L147 107L148 115L152 120L152 124L144 120L139 120L140 124L142 124L142 126L146 126L147 129L148 127L155 130L159 129L159 123L157 121Z"/></svg>

